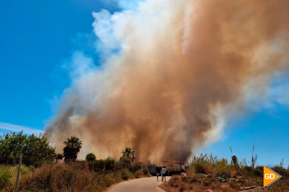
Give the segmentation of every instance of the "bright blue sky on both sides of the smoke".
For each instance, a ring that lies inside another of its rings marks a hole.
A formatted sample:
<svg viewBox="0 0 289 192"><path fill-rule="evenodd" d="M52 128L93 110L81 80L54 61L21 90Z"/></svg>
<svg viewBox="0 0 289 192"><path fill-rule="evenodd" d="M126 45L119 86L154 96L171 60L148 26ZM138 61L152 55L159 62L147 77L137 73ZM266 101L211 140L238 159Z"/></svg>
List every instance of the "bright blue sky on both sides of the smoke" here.
<svg viewBox="0 0 289 192"><path fill-rule="evenodd" d="M102 1L1 1L0 133L24 129L43 132L55 114L53 100L70 85L61 64L75 50L90 54L92 11L110 9ZM81 42L81 43L79 43ZM97 61L97 54L90 54ZM253 144L260 164L289 164L289 110L274 104L248 110L227 123L221 139L206 153L249 159ZM277 146L273 144L279 142Z"/></svg>

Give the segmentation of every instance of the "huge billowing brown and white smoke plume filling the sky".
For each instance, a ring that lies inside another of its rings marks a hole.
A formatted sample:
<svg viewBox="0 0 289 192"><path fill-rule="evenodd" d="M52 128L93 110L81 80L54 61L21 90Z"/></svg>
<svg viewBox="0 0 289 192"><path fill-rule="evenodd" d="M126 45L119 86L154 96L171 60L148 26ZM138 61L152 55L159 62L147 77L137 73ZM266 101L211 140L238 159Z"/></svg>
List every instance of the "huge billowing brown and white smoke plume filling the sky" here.
<svg viewBox="0 0 289 192"><path fill-rule="evenodd" d="M45 129L59 150L75 135L82 155L129 146L141 161L184 161L288 71L288 0L135 4L92 13L103 63L74 54L73 84Z"/></svg>

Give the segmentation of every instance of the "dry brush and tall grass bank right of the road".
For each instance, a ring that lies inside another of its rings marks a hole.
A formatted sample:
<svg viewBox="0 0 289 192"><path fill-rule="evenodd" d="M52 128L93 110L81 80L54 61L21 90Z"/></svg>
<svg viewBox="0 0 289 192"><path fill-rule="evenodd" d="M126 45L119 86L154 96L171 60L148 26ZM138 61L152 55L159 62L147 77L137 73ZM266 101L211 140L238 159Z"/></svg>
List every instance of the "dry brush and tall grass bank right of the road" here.
<svg viewBox="0 0 289 192"><path fill-rule="evenodd" d="M218 158L212 154L193 155L186 172L172 176L161 187L169 192L288 192L289 166L283 160L277 165L266 166L282 178L267 188L263 187L263 166L257 165L254 147L250 161L241 161L234 155L231 159Z"/></svg>

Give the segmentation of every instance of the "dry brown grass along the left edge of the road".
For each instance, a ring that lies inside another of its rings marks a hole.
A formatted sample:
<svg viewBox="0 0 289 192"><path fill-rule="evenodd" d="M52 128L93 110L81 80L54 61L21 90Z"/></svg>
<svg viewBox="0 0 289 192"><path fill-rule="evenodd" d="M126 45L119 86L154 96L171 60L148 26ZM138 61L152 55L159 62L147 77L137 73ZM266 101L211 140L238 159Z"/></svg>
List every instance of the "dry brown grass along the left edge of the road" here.
<svg viewBox="0 0 289 192"><path fill-rule="evenodd" d="M18 184L18 191L22 192L70 192L73 174L73 164L56 163L45 164L22 174ZM92 172L87 166L76 167L73 183L74 192L104 191L107 187L122 180L150 176L147 169L142 167L136 173L128 169L113 172L108 170ZM13 185L1 187L0 192L12 191Z"/></svg>

